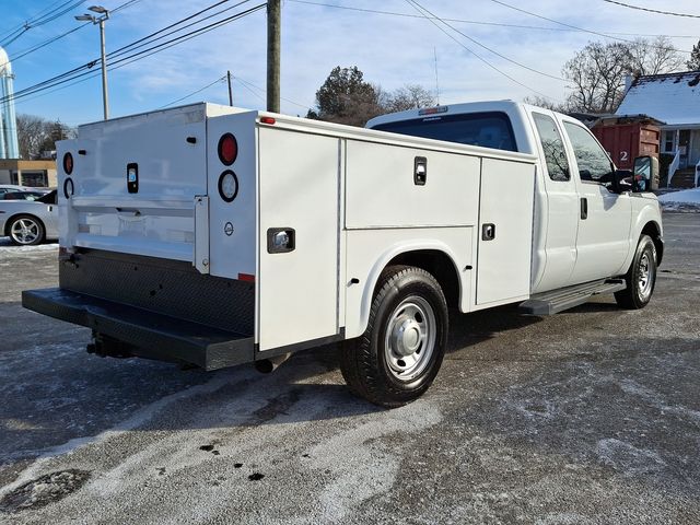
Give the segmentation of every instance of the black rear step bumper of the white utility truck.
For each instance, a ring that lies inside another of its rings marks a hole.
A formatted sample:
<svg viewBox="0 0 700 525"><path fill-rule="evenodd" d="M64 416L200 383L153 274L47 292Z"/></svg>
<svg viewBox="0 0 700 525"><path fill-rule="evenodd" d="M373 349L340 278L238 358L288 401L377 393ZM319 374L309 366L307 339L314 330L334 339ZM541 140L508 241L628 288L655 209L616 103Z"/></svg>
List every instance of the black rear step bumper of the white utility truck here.
<svg viewBox="0 0 700 525"><path fill-rule="evenodd" d="M205 370L252 362L253 336L212 328L60 288L26 290L22 305L92 328L126 343L138 357L195 364Z"/></svg>

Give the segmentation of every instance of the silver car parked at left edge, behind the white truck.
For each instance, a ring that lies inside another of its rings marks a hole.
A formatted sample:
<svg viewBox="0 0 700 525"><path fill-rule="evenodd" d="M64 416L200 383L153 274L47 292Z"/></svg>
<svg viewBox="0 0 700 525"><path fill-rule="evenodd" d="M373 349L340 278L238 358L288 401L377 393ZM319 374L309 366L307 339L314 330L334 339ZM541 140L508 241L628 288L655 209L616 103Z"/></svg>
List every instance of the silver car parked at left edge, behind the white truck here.
<svg viewBox="0 0 700 525"><path fill-rule="evenodd" d="M0 200L0 233L14 244L28 246L58 238L57 191L36 200Z"/></svg>

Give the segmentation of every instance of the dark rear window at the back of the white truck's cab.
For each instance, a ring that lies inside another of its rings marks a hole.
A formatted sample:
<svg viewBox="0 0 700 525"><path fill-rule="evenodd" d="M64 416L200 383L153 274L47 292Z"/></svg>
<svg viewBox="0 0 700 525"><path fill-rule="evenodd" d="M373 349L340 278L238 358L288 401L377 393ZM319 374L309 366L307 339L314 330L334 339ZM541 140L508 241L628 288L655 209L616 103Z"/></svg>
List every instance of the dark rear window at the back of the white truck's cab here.
<svg viewBox="0 0 700 525"><path fill-rule="evenodd" d="M517 151L511 120L508 115L500 112L431 115L411 120L378 124L372 129L497 150Z"/></svg>

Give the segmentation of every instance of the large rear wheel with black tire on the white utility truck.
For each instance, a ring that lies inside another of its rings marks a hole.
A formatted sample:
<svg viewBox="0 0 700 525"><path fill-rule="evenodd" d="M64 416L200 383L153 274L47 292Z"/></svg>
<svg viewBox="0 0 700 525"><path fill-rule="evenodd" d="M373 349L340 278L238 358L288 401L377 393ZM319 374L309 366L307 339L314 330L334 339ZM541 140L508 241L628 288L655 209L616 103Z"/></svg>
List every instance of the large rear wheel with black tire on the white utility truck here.
<svg viewBox="0 0 700 525"><path fill-rule="evenodd" d="M386 408L420 397L438 375L447 342L447 304L440 284L411 266L386 268L365 332L346 341L340 370L350 390Z"/></svg>

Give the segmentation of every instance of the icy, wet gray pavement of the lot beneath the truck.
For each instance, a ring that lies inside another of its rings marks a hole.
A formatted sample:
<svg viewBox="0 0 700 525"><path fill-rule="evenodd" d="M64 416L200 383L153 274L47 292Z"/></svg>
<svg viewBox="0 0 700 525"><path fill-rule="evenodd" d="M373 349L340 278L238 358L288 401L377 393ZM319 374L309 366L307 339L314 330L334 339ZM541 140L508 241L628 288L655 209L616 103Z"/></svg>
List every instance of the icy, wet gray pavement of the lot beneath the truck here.
<svg viewBox="0 0 700 525"><path fill-rule="evenodd" d="M390 411L331 347L271 375L88 355L19 303L56 246L0 240L0 523L698 523L700 214L664 220L645 310L456 315Z"/></svg>

